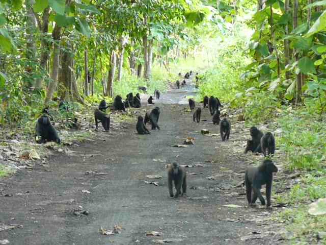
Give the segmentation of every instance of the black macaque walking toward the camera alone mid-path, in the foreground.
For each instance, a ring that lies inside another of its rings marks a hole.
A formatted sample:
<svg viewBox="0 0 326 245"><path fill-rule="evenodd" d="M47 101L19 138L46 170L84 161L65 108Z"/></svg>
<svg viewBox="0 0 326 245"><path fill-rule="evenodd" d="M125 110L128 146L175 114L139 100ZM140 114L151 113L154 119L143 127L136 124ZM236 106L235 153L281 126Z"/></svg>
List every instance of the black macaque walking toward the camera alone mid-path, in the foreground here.
<svg viewBox="0 0 326 245"><path fill-rule="evenodd" d="M173 195L173 183L176 189L175 195ZM180 166L176 162L172 163L168 168L168 187L171 198L178 198L179 195L186 194L187 192L187 174L184 167ZM182 192L181 192L182 187Z"/></svg>

